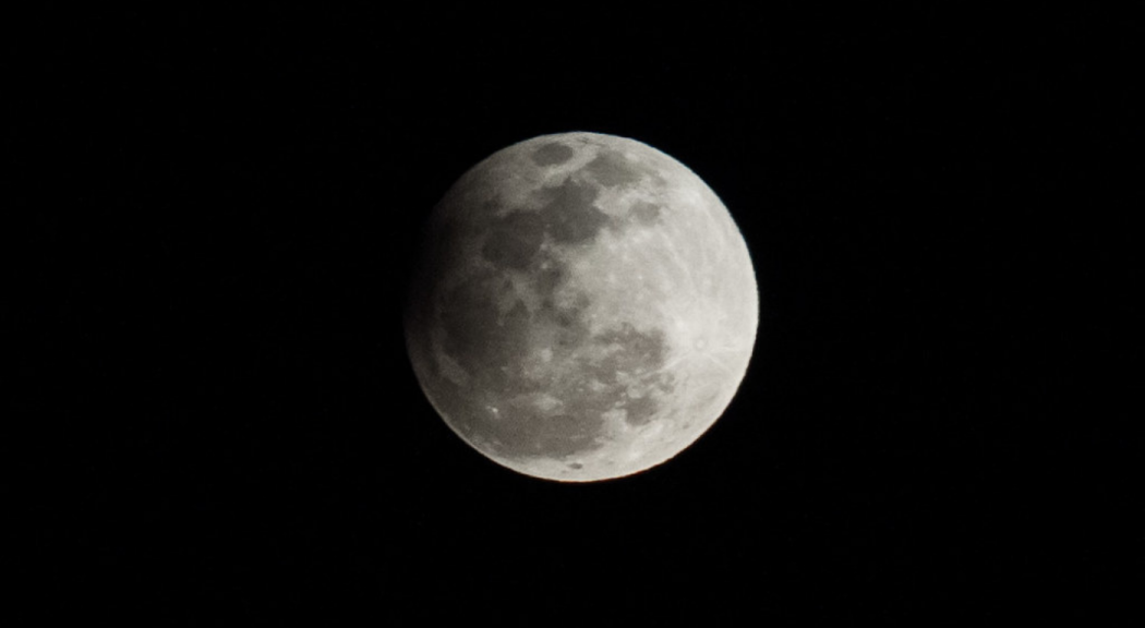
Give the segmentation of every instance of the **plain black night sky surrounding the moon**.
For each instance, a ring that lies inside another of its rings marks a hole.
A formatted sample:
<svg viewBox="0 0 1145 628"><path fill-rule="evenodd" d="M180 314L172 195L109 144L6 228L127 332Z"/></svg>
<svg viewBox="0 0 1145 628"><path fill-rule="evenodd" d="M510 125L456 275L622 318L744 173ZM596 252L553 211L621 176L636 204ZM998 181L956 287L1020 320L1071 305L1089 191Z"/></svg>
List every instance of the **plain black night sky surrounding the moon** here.
<svg viewBox="0 0 1145 628"><path fill-rule="evenodd" d="M10 625L1120 612L1145 29L776 6L10 22ZM453 436L398 313L447 188L568 130L700 174L760 288L724 418L591 485Z"/></svg>

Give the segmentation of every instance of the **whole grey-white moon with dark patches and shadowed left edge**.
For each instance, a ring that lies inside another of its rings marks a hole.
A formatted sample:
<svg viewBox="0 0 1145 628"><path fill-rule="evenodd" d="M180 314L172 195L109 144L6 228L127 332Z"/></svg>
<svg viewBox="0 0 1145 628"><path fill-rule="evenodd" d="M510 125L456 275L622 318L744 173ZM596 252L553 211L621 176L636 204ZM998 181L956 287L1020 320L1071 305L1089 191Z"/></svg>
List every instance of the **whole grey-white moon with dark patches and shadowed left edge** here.
<svg viewBox="0 0 1145 628"><path fill-rule="evenodd" d="M748 368L758 293L724 204L634 140L500 150L434 209L405 309L423 390L522 474L591 482L669 460Z"/></svg>

